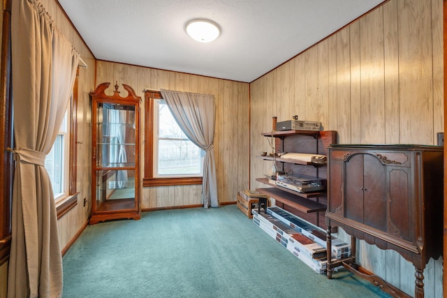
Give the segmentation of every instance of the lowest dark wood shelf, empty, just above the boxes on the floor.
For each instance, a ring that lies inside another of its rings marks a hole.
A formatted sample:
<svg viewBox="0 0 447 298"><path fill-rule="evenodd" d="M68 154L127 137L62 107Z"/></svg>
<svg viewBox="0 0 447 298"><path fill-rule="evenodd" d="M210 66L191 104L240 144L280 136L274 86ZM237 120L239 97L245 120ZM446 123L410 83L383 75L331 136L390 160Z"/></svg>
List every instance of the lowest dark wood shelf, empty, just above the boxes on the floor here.
<svg viewBox="0 0 447 298"><path fill-rule="evenodd" d="M305 198L300 198L297 195L287 193L286 191L282 191L281 189L278 188L274 187L256 188L256 191L264 193L265 195L268 195L269 197L272 197L275 200L277 200L277 202L287 204L288 206L293 207L304 213L312 213L326 210L326 206L324 204L320 204L312 200L307 200Z"/></svg>

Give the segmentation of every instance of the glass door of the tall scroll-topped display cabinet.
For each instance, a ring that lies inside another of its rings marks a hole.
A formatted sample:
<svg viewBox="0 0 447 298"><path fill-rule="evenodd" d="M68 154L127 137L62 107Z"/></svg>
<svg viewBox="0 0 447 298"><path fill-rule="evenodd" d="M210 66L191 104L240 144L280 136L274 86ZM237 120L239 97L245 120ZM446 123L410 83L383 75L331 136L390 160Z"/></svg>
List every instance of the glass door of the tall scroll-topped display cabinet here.
<svg viewBox="0 0 447 298"><path fill-rule="evenodd" d="M135 208L135 105L98 103L96 211Z"/></svg>

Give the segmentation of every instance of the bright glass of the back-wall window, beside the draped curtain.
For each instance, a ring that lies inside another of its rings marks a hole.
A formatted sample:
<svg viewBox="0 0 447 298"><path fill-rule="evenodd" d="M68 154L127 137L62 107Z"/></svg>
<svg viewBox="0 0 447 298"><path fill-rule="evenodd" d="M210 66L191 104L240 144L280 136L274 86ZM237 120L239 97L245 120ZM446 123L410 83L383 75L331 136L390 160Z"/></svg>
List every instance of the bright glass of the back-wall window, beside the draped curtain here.
<svg viewBox="0 0 447 298"><path fill-rule="evenodd" d="M156 177L201 177L203 150L179 128L164 100L154 107L154 172Z"/></svg>

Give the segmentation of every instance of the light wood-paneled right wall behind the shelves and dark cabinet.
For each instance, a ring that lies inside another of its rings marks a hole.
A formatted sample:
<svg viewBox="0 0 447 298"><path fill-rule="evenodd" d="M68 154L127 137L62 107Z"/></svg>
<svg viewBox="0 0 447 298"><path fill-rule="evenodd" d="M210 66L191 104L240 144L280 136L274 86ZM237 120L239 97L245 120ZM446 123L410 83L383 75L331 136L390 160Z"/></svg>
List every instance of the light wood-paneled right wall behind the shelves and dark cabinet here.
<svg viewBox="0 0 447 298"><path fill-rule="evenodd" d="M272 164L261 133L278 121L321 121L346 144L436 144L444 131L442 0L390 0L251 83L251 188ZM344 232L339 233L348 241ZM439 239L442 241L442 239ZM360 241L362 267L414 295L414 269L394 251ZM442 295L442 260L424 272Z"/></svg>

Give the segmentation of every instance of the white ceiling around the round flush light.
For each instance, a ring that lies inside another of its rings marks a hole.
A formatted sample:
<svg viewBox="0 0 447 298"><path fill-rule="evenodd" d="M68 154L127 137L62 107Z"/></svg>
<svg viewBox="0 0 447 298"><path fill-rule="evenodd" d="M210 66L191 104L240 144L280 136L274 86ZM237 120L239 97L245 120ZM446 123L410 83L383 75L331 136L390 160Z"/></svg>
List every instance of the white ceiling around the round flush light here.
<svg viewBox="0 0 447 298"><path fill-rule="evenodd" d="M96 59L252 82L383 0L59 0ZM198 43L184 24L217 22Z"/></svg>

